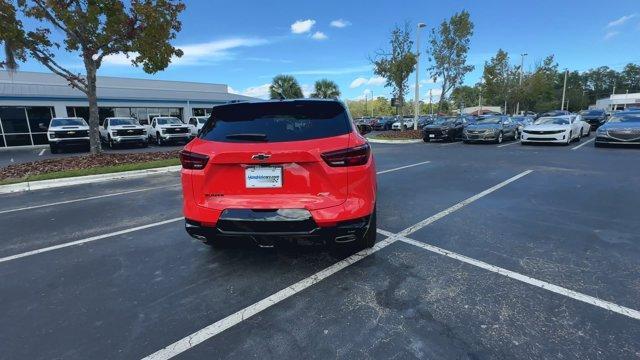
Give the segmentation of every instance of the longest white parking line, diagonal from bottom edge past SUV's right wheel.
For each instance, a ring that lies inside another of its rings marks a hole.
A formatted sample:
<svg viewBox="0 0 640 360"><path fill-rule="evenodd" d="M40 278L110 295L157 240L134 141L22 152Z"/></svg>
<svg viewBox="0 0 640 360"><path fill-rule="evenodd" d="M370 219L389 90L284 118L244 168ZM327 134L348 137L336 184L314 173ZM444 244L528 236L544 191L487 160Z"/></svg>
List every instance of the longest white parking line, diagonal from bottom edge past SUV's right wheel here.
<svg viewBox="0 0 640 360"><path fill-rule="evenodd" d="M270 308L271 306L279 303L280 301L287 299L293 295L295 295L296 293L308 288L311 285L314 285L324 279L326 279L327 277L329 277L330 275L335 274L336 272L348 267L349 265L352 265L354 263L356 263L357 261L377 252L378 250L387 247L391 244L393 244L394 242L398 241L399 238L402 237L402 235L400 234L409 234L411 232L417 231L419 230L421 227L427 226L431 223L433 223L434 221L443 218L444 216L451 214L452 212L454 212L455 210L458 210L462 207L464 207L465 205L470 204L471 202L513 182L516 181L517 179L529 174L531 172L531 170L527 170L519 175L516 175L506 181L501 182L500 184L491 187L481 193L479 193L476 196L472 196L469 199L460 202L444 211L441 211L440 213L430 217L429 219L433 219L431 221L421 221L418 224L409 227L407 229L405 229L404 231L402 231L399 234L393 234L381 229L376 229L378 233L381 233L383 235L389 235L388 238L384 239L383 241L376 243L376 245L371 248L371 249L365 249L362 250L354 255L351 255L350 257L341 260L331 266L329 266L328 268L321 270L287 288L284 288L280 291L278 291L277 293L266 297L260 301L258 301L255 304L249 305L246 308L237 311L227 317L225 317L222 320L218 320L215 323L202 328L196 332L194 332L191 335L188 335L176 342L174 342L173 344L160 349L156 352L154 352L153 354L145 357L143 360L159 360L159 359L170 359L174 356L180 355L181 353L191 349L192 347L202 343L205 340L208 340L216 335L218 335L219 333L223 332L226 329L229 329L232 326L235 326L239 323L241 323L242 321L248 319L249 317L256 315L258 313L260 313L263 310L266 310L268 308ZM437 217L439 216L439 217ZM437 217L437 218L435 218ZM411 231L410 231L411 230Z"/></svg>

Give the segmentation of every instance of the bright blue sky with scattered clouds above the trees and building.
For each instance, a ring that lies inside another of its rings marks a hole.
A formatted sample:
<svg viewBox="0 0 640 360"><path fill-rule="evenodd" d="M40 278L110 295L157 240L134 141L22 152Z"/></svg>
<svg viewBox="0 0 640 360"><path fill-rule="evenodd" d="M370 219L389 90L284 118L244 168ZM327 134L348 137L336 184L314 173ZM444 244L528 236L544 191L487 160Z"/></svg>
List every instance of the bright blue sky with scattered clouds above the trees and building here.
<svg viewBox="0 0 640 360"><path fill-rule="evenodd" d="M525 70L550 54L561 68L574 70L640 63L638 0L185 2L183 30L175 41L185 51L182 59L149 75L114 57L99 75L225 83L234 92L264 97L271 78L285 73L295 75L307 93L315 80L328 78L345 99L387 95L368 58L387 46L392 27L425 22L430 30L463 9L475 24L469 62L476 70L466 77L468 84L478 81L484 61L499 48L514 63L518 54L528 53ZM74 55L60 54L60 59L81 70ZM426 60L421 59L420 96L428 100L429 89L438 84L428 81ZM34 62L22 69L43 70Z"/></svg>

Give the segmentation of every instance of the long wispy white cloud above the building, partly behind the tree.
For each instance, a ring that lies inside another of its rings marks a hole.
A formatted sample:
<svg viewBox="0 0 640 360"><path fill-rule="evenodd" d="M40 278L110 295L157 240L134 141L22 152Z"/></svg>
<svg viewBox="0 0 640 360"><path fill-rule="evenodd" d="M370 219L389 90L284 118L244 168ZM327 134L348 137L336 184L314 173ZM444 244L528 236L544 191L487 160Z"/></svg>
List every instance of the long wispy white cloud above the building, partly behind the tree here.
<svg viewBox="0 0 640 360"><path fill-rule="evenodd" d="M223 40L210 41L206 43L185 44L178 45L177 48L181 49L184 54L182 57L173 57L171 59L172 65L206 65L220 60L227 60L233 58L233 49L242 47L254 47L265 45L269 43L268 40L262 38L229 38ZM135 57L136 54L129 55L130 58ZM106 65L120 65L131 66L131 59L127 58L125 54L109 55L105 56L102 60Z"/></svg>

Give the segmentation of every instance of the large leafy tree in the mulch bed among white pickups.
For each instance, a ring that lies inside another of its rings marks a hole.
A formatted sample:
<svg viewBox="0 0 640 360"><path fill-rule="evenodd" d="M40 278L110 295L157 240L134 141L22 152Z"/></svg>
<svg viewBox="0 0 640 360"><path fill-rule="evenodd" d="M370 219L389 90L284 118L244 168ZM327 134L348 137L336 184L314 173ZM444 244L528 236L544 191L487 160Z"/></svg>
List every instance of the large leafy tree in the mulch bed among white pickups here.
<svg viewBox="0 0 640 360"><path fill-rule="evenodd" d="M96 77L102 62L124 54L147 73L164 70L173 57L182 56L171 40L182 27L178 16L184 8L179 0L0 0L5 48L0 66L15 70L17 62L32 58L83 92L89 102L91 153L99 153ZM84 72L58 61L60 49L78 55Z"/></svg>

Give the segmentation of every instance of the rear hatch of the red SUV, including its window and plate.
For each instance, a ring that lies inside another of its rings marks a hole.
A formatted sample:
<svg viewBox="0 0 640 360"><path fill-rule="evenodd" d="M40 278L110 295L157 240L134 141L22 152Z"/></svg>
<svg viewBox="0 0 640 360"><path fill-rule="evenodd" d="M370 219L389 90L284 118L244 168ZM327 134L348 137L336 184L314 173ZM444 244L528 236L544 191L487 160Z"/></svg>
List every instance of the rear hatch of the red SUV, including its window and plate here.
<svg viewBox="0 0 640 360"><path fill-rule="evenodd" d="M189 147L209 162L193 173L198 205L219 210L307 209L342 204L348 168L323 153L351 143L352 127L338 102L282 101L215 107Z"/></svg>

